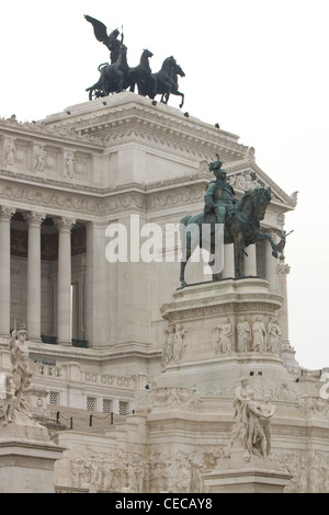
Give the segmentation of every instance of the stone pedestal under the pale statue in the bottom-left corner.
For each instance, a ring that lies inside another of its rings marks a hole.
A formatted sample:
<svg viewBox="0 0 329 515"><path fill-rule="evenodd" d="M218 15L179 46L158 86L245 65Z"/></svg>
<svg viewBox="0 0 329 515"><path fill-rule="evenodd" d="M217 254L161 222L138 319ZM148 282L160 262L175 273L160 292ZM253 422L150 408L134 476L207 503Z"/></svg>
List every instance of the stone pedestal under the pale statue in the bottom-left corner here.
<svg viewBox="0 0 329 515"><path fill-rule="evenodd" d="M64 449L48 431L18 414L0 427L0 493L53 493L54 465Z"/></svg>

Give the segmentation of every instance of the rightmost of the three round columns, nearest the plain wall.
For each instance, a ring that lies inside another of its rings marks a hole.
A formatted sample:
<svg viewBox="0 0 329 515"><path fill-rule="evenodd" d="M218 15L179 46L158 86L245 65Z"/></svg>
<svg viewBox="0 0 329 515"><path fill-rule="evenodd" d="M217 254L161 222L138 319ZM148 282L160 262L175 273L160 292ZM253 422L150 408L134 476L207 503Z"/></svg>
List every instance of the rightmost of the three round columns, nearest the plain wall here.
<svg viewBox="0 0 329 515"><path fill-rule="evenodd" d="M54 220L58 228L57 341L71 345L71 228L76 220Z"/></svg>

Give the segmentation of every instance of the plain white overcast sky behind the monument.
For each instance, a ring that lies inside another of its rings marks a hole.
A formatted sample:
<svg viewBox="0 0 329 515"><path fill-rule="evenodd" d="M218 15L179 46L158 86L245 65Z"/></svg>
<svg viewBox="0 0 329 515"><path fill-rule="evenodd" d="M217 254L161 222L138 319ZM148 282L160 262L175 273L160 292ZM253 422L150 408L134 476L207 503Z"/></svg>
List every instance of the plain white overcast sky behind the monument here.
<svg viewBox="0 0 329 515"><path fill-rule="evenodd" d="M239 135L287 194L299 192L285 227L290 341L302 366L329 367L329 1L2 2L0 116L31 122L88 101L109 50L83 14L123 25L129 66L144 48L152 71L173 55L183 110Z"/></svg>

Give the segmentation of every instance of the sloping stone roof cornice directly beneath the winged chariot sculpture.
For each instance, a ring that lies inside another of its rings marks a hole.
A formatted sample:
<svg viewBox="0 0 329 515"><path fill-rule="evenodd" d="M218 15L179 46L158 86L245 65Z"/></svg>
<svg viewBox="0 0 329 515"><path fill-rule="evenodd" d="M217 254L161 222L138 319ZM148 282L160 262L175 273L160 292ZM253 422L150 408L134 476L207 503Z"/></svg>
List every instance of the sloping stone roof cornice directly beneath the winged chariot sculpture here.
<svg viewBox="0 0 329 515"><path fill-rule="evenodd" d="M106 105L103 105L103 104ZM68 116L66 113L70 113ZM75 129L80 135L91 135L105 147L123 140L138 140L170 147L201 158L214 157L215 151L226 159L241 159L247 147L239 137L206 124L198 118L186 117L177 108L124 92L105 100L78 104L64 113L47 117L43 123L61 129Z"/></svg>

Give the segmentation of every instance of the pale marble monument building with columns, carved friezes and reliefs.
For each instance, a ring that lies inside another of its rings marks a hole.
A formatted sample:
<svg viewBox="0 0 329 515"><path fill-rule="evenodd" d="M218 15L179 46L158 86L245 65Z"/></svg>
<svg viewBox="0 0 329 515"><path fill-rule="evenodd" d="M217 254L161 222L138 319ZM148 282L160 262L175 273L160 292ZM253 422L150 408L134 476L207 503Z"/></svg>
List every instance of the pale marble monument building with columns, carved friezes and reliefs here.
<svg viewBox="0 0 329 515"><path fill-rule="evenodd" d="M275 470L274 490L329 491L325 369L295 359L284 255L250 245L249 277L237 281L227 245L223 281L189 263L185 289L174 240L172 260L105 258L110 224L138 215L164 228L200 213L215 152L237 196L271 186L262 227L284 230L296 194L238 136L177 108L125 92L37 123L0 119L0 369L10 331L25 323L31 410L66 449L58 492L220 491L241 376L276 408L271 466L257 457L254 470ZM321 487L309 470L326 472Z"/></svg>

